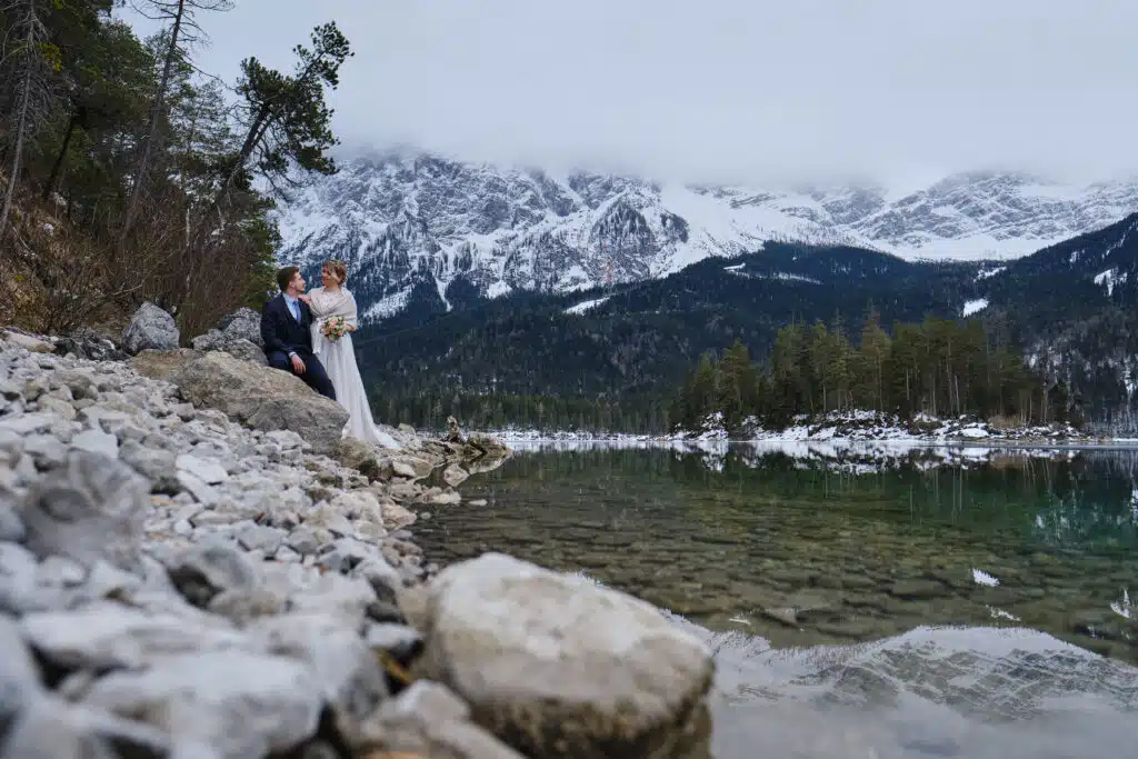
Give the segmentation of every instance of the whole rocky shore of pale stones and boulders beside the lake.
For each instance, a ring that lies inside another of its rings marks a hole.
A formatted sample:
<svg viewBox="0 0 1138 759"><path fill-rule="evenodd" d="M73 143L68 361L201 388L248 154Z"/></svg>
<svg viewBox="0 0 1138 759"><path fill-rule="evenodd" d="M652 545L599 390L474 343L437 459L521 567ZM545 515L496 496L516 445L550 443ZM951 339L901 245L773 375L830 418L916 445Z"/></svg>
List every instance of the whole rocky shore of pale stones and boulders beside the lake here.
<svg viewBox="0 0 1138 759"><path fill-rule="evenodd" d="M711 653L655 608L424 564L504 446L343 440L237 320L179 349L155 311L0 332L0 757L707 756Z"/></svg>

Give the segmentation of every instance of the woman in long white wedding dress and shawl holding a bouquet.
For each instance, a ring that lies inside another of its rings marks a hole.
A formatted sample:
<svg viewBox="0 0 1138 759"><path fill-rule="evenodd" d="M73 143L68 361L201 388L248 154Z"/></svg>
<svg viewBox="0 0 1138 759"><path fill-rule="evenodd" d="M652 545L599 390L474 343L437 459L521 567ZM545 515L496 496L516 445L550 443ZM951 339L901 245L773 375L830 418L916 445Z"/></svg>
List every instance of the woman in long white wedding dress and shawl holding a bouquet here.
<svg viewBox="0 0 1138 759"><path fill-rule="evenodd" d="M357 314L355 298L344 288L347 273L343 262L325 262L320 271L323 287L310 290L307 296L300 296L315 317L312 323L312 352L320 356L329 379L332 380L336 401L348 410L349 418L344 435L385 448L398 448L399 444L395 438L376 427L368 394L360 378L360 368L356 365L355 350L352 347L352 332L356 330ZM338 340L329 340L324 337L322 328L335 316L344 317L347 331Z"/></svg>

